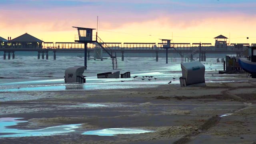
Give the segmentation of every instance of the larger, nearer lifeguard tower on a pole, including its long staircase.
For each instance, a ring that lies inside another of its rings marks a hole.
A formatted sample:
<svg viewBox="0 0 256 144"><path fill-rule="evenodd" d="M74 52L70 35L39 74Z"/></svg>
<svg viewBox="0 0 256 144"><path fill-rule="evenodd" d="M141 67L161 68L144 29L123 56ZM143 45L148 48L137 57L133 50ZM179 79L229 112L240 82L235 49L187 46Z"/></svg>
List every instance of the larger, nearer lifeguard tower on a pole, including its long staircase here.
<svg viewBox="0 0 256 144"><path fill-rule="evenodd" d="M97 36L97 32L96 32L96 35L93 35L93 30L95 30L94 28L82 28L82 27L76 27L76 26L72 26L72 27L78 30L78 35L75 36L75 42L84 43L85 69L87 69L87 43L98 44L104 51L108 53L110 58L112 58L113 70L117 68L116 55L113 56L112 49Z"/></svg>

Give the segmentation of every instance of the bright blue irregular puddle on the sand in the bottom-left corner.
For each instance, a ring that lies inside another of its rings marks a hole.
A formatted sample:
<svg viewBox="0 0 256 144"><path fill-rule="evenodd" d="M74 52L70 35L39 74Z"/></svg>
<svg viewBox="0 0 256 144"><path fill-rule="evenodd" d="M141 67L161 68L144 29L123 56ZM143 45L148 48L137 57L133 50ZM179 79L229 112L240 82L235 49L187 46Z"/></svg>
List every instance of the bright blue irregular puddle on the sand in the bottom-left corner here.
<svg viewBox="0 0 256 144"><path fill-rule="evenodd" d="M56 134L64 134L74 132L81 124L68 124L63 126L52 126L39 130L18 130L15 128L6 128L7 126L15 126L21 122L28 122L25 120L18 120L21 118L0 118L0 138L6 137L26 137L26 136L52 136ZM1 134L3 133L3 134ZM9 133L9 134L6 134ZM11 134L10 134L11 133Z"/></svg>

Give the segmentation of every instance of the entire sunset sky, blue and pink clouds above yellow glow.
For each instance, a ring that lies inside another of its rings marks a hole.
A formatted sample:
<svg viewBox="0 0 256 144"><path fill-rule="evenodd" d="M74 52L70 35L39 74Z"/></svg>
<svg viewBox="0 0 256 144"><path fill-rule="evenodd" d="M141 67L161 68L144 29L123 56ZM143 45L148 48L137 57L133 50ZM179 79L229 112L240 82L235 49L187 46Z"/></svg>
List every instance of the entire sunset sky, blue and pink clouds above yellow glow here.
<svg viewBox="0 0 256 144"><path fill-rule="evenodd" d="M44 42L74 42L72 26L97 28L98 16L104 42L214 45L222 34L229 43L256 43L255 6L255 0L0 0L0 36L27 32Z"/></svg>

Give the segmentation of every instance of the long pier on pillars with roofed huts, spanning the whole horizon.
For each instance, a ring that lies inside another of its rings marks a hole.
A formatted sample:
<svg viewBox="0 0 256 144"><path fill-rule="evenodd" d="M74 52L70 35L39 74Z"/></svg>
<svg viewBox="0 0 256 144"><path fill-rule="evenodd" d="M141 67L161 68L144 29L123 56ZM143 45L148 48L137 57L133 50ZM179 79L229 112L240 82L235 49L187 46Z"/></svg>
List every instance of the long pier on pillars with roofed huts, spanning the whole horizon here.
<svg viewBox="0 0 256 144"><path fill-rule="evenodd" d="M95 40L86 42L81 42L76 40L76 42L43 42L34 36L29 34L23 34L13 40L0 39L0 51L2 51L3 59L10 60L15 58L15 52L38 52L38 59L49 59L49 53L53 53L53 60L56 60L56 55L60 52L85 52L87 59L90 58L90 54L94 53L95 48L104 48L111 50L110 52L105 51L110 54L110 57L114 58L114 53L120 53L122 61L126 53L154 53L156 56L156 62L160 53L173 53L179 54L180 57L185 60L194 60L193 56L199 54L200 60L206 60L206 54L236 54L241 56L247 49L246 46L252 46L253 44L247 43L226 43L225 36L215 37L215 45L211 43L170 43L168 44L168 51L166 50L166 43L156 43L156 42L103 42L98 36L92 36ZM98 39L97 39L98 38ZM7 57L7 58L6 58ZM167 62L166 62L167 63Z"/></svg>

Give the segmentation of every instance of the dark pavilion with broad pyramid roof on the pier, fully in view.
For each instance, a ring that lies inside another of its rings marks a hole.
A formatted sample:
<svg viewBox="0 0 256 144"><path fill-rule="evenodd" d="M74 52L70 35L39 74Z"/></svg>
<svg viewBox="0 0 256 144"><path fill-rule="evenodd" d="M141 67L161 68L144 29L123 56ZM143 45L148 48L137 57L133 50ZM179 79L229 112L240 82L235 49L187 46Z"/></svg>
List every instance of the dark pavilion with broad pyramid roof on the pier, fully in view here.
<svg viewBox="0 0 256 144"><path fill-rule="evenodd" d="M42 48L42 42L44 41L25 33L8 42L11 43L12 48Z"/></svg>

